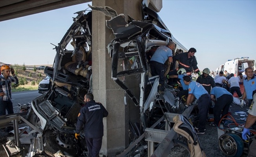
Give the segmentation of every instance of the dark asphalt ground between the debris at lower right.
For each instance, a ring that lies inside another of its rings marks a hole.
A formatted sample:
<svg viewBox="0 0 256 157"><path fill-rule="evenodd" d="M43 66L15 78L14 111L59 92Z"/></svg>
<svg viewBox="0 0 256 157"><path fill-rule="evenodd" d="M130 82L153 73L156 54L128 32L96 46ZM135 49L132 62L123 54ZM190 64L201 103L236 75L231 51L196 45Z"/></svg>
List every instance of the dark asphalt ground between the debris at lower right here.
<svg viewBox="0 0 256 157"><path fill-rule="evenodd" d="M234 117L234 120L238 122L239 124L244 124L245 120L240 120L240 118L245 118L247 116L241 116L241 114L236 115L235 112L238 111L244 111L247 113L248 107L241 108L240 106L236 104L230 105L229 112L232 117ZM248 115L248 113L247 113ZM210 114L209 117L213 117L212 114ZM230 116L228 117L230 118ZM231 122L230 122L231 123ZM229 124L227 122L226 124ZM229 125L230 128L236 127L235 125ZM227 126L224 126L226 128ZM207 157L226 157L220 147L219 147L219 136L224 134L224 131L219 131L218 135L218 128L209 126L208 124L206 125L206 131L205 134L198 134L199 142L201 148L203 148L203 151L205 152ZM179 140L183 140L183 142L187 142L187 139L184 137L179 137ZM246 156L243 154L243 156ZM183 148L182 146L176 145L174 148L170 150L169 157L190 157L190 153Z"/></svg>

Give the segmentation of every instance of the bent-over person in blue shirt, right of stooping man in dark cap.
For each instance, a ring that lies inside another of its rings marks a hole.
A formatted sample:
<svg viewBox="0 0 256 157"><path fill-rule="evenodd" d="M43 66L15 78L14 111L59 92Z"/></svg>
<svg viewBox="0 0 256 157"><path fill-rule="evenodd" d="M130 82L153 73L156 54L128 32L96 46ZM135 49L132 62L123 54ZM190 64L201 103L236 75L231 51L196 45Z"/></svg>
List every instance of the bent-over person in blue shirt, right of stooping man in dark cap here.
<svg viewBox="0 0 256 157"><path fill-rule="evenodd" d="M211 126L219 126L219 121L221 117L227 115L229 112L229 106L233 102L233 95L229 91L227 91L227 89L217 86L212 88L210 97L212 101L215 102L213 108L214 123L211 124Z"/></svg>

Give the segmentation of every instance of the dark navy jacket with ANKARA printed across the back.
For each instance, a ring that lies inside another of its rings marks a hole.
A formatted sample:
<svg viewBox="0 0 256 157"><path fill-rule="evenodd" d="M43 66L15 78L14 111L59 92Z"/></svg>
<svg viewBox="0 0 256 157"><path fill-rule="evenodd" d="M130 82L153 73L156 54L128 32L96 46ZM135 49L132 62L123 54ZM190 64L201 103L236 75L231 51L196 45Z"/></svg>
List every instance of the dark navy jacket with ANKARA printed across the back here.
<svg viewBox="0 0 256 157"><path fill-rule="evenodd" d="M76 125L76 133L80 133L82 128L84 128L85 137L89 138L97 138L103 136L103 117L108 116L108 111L104 108L104 106L95 102L94 100L90 100L86 102L84 106L80 109L77 125Z"/></svg>

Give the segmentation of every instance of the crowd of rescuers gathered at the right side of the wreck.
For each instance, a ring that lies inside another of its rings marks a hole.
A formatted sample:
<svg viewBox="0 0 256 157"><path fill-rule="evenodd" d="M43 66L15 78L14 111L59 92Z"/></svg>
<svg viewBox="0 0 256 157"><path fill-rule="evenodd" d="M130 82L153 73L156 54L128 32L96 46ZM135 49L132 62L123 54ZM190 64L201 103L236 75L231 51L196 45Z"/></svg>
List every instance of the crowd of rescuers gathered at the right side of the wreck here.
<svg viewBox="0 0 256 157"><path fill-rule="evenodd" d="M198 107L198 119L199 125L194 126L196 132L199 134L205 133L205 125L207 122L208 109L211 102L214 101L214 123L211 126L217 127L221 122L221 118L227 115L229 106L233 102L234 92L237 93L241 100L241 107L245 106L245 99L249 101L249 116L243 129L243 139L246 140L246 134L250 134L249 128L256 122L256 70L249 67L245 69L245 76L239 73L238 77L234 77L233 73L228 73L226 70L220 71L214 78L214 73L210 74L210 69L203 69L203 75L201 75L198 67L197 60L194 54L195 48L190 48L186 53L180 53L173 56L174 42L169 42L167 46L160 46L152 56L150 60L151 70L153 69L152 76L159 75L158 93L163 94L164 82L168 80L168 83L175 83L175 79L179 79L180 92L177 94L179 100L181 100L186 107L190 106L197 99ZM168 71L167 79L165 78L164 64L168 60L169 63L175 65L178 62L178 68ZM192 81L192 68L194 73L198 74L197 80ZM240 91L240 85L244 86L243 94ZM211 101L212 100L212 101ZM224 117L225 118L225 117ZM254 139L256 135L254 135ZM256 140L254 140L250 146L249 156L256 153Z"/></svg>

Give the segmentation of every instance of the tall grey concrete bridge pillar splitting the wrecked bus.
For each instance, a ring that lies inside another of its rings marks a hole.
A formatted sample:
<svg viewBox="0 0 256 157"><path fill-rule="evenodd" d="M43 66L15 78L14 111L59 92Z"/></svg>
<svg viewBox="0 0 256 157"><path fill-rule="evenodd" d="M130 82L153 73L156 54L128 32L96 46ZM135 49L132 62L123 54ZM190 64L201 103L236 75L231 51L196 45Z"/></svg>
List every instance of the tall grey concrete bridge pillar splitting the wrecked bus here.
<svg viewBox="0 0 256 157"><path fill-rule="evenodd" d="M141 0L93 0L93 6L112 7L117 14L124 13L135 20L141 20ZM124 90L112 79L112 64L107 46L115 38L111 29L106 27L106 20L110 17L99 11L92 13L92 71L93 71L93 95L96 102L101 102L108 110L107 118L104 118L104 136L101 153L114 156L123 152L129 145L129 120L139 122L139 106L135 106L128 98L128 104L124 105ZM119 64L121 66L121 62ZM140 79L137 79L140 81ZM139 99L139 81L134 82L132 77L126 77L126 83L130 84L133 92ZM128 96L127 96L128 97Z"/></svg>

